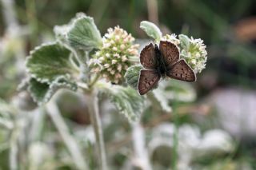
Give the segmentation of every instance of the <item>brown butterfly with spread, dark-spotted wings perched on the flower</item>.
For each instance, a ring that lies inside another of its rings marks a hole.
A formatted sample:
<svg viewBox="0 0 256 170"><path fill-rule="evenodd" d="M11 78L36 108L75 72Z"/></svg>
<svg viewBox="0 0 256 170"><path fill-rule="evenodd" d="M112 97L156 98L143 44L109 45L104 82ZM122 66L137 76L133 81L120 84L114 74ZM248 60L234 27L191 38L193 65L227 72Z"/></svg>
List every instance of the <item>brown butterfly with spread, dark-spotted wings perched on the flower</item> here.
<svg viewBox="0 0 256 170"><path fill-rule="evenodd" d="M144 69L138 80L138 93L143 95L158 84L161 77L171 77L181 81L195 81L193 69L186 61L179 59L178 47L171 42L161 41L158 45L146 45L140 54Z"/></svg>

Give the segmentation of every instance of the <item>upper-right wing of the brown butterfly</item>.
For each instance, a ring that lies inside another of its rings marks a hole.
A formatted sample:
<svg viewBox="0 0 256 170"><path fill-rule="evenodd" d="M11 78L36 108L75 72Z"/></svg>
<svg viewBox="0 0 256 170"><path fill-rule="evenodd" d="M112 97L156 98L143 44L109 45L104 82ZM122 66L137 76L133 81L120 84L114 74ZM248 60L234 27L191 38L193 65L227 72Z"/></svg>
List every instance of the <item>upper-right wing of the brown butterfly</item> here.
<svg viewBox="0 0 256 170"><path fill-rule="evenodd" d="M165 65L174 65L179 59L178 47L171 42L161 41L159 45Z"/></svg>

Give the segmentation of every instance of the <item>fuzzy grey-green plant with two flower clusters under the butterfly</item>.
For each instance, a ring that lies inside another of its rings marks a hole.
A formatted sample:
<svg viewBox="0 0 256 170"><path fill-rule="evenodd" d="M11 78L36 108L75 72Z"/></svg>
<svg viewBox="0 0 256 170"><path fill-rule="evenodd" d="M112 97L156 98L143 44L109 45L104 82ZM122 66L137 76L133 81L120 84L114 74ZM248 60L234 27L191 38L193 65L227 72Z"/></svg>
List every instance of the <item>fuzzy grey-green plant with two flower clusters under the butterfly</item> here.
<svg viewBox="0 0 256 170"><path fill-rule="evenodd" d="M174 34L162 36L158 27L150 22L141 22L141 28L157 43L167 40L178 45L181 57L195 73L204 69L207 53L202 40L194 40L182 34L178 38ZM56 26L54 33L55 42L39 45L26 59L27 90L41 107L48 105L58 89L83 93L94 127L99 164L101 169L107 169L102 123L98 111L98 97L102 95L98 94L105 93L109 96L118 112L125 115L130 122L139 121L143 109L146 108L147 98L150 97L141 97L137 91L139 70L142 68L138 65L138 45L134 44L132 35L119 26L110 28L102 37L94 19L86 14L77 14L69 24ZM175 83L159 85L155 93L151 93L158 101L160 109L166 112L171 111L168 104L171 97L180 95L186 98L187 95L189 100L194 100L195 97L193 90L182 86L182 83L175 87L181 89L177 94L158 95L166 90L167 86L173 85Z"/></svg>

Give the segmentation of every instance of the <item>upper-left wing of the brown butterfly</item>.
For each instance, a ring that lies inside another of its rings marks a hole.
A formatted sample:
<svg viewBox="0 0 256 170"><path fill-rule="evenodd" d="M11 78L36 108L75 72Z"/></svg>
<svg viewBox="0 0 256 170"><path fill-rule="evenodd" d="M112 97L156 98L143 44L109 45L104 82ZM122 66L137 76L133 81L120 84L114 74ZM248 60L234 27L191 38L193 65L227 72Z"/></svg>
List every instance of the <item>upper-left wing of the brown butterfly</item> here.
<svg viewBox="0 0 256 170"><path fill-rule="evenodd" d="M155 69L157 66L157 58L152 43L142 49L139 59L145 69Z"/></svg>

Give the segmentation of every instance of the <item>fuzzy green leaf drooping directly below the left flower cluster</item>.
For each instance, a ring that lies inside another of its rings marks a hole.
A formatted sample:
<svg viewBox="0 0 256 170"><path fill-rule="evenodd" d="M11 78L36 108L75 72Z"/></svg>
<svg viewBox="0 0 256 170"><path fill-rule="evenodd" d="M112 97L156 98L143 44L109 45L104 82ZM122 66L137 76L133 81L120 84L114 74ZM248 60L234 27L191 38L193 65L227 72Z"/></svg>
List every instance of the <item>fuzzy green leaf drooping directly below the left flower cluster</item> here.
<svg viewBox="0 0 256 170"><path fill-rule="evenodd" d="M145 98L137 90L121 85L110 85L102 90L110 96L110 101L116 106L119 113L124 114L130 122L138 121L144 109Z"/></svg>

